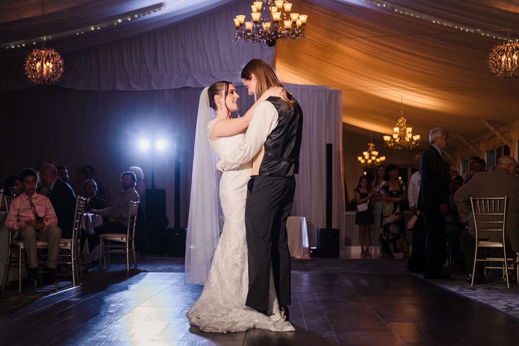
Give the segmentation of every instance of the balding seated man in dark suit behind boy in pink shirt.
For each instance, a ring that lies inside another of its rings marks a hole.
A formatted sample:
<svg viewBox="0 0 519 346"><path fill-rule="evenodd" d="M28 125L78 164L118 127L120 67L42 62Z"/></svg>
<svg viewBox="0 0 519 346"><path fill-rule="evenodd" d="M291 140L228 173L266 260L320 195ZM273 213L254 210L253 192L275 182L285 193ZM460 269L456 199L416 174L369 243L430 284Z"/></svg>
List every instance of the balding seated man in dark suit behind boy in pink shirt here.
<svg viewBox="0 0 519 346"><path fill-rule="evenodd" d="M62 237L71 239L76 210L76 195L72 187L58 178L56 167L50 163L40 169L40 180L47 188L46 195L58 217L58 227L61 229Z"/></svg>

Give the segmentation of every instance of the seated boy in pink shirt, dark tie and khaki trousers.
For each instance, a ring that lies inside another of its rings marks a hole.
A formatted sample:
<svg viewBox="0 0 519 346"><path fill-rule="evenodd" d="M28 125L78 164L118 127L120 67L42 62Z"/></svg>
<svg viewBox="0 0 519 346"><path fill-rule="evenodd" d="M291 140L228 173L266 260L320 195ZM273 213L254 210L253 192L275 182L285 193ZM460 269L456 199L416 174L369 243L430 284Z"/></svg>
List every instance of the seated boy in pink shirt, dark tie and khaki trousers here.
<svg viewBox="0 0 519 346"><path fill-rule="evenodd" d="M56 278L56 265L61 240L61 229L50 200L36 193L36 171L24 169L20 173L22 194L12 201L5 224L21 236L29 262L27 278L36 280L38 258L36 240L49 242L47 267L51 278Z"/></svg>

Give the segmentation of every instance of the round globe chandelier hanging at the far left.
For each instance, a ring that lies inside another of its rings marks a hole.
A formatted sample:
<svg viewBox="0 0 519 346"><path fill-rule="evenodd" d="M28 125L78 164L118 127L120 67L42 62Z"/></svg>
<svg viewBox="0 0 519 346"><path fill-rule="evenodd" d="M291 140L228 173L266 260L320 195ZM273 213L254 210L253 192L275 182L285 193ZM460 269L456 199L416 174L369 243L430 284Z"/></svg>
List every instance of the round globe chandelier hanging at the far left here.
<svg viewBox="0 0 519 346"><path fill-rule="evenodd" d="M42 2L42 20L45 15L45 3ZM42 48L34 48L25 58L25 75L34 84L53 84L63 74L63 59L60 53L52 48L45 48L43 37Z"/></svg>

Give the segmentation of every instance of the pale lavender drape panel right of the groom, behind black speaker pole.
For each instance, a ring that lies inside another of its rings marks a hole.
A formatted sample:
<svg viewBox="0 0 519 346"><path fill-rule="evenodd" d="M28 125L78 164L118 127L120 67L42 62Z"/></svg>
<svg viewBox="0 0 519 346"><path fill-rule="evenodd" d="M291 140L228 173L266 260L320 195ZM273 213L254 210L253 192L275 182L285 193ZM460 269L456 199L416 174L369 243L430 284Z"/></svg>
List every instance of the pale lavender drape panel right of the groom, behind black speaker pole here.
<svg viewBox="0 0 519 346"><path fill-rule="evenodd" d="M333 227L345 226L342 91L327 86L285 84L303 109L303 143L296 176L293 216L305 216L310 246L326 227L326 143L333 144Z"/></svg>

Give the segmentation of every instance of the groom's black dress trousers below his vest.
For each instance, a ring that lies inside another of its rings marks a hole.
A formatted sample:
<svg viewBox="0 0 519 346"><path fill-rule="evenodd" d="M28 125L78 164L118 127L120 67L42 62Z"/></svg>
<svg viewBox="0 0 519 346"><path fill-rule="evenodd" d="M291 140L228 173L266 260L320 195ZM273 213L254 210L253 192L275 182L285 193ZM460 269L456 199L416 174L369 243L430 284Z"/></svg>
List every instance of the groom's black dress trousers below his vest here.
<svg viewBox="0 0 519 346"><path fill-rule="evenodd" d="M270 265L281 306L290 304L290 252L286 218L294 203L294 177L254 175L247 187L245 230L249 293L245 305L268 310Z"/></svg>

